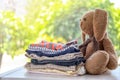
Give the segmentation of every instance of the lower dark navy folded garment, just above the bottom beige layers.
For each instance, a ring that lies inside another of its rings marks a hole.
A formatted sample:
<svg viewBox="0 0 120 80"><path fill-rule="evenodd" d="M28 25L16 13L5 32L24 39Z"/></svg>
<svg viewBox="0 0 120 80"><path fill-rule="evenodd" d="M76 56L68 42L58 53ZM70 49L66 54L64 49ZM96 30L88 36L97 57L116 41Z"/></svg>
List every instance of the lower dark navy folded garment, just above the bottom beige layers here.
<svg viewBox="0 0 120 80"><path fill-rule="evenodd" d="M83 57L76 57L70 60L41 60L31 59L31 63L34 65L45 65L45 64L54 64L60 66L75 66L80 64L81 62L85 63L85 59Z"/></svg>

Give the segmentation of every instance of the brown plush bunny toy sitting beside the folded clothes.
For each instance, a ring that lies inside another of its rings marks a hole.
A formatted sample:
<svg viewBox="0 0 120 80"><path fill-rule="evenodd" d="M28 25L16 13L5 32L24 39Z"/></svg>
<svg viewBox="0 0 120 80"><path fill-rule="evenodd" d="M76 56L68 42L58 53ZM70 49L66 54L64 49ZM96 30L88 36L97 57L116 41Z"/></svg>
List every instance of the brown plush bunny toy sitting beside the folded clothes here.
<svg viewBox="0 0 120 80"><path fill-rule="evenodd" d="M101 74L117 67L118 61L113 45L106 33L107 12L96 9L87 12L81 19L83 42L91 39L85 49L85 67L89 74Z"/></svg>

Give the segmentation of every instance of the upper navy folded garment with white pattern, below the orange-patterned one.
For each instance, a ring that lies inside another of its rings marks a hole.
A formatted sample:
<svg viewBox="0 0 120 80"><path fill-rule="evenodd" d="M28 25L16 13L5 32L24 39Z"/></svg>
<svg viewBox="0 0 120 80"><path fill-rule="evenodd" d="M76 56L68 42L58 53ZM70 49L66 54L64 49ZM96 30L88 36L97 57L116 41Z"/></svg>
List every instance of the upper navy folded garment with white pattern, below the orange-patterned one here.
<svg viewBox="0 0 120 80"><path fill-rule="evenodd" d="M51 49L39 47L39 48L35 48L35 49L27 49L26 52L29 55L35 54L39 57L41 57L41 56L55 57L55 56L60 56L60 55L64 55L67 53L72 54L75 52L80 52L80 50L75 45L72 45L72 46L69 46L62 50L51 50Z"/></svg>

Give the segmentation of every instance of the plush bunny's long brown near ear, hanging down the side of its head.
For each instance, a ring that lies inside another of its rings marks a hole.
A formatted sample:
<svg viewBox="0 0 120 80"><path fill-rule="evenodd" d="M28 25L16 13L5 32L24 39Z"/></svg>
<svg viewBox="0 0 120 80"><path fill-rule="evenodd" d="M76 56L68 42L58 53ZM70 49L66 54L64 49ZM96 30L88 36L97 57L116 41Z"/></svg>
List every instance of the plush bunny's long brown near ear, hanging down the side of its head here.
<svg viewBox="0 0 120 80"><path fill-rule="evenodd" d="M105 35L107 27L107 12L96 9L93 15L93 31L97 41L101 41Z"/></svg>

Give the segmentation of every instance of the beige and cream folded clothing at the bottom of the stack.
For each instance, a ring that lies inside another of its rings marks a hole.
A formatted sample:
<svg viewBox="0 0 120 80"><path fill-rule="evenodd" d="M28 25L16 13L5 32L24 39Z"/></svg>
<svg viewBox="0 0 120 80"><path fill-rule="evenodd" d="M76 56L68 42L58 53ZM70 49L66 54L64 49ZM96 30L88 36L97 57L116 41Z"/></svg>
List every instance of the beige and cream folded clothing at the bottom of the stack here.
<svg viewBox="0 0 120 80"><path fill-rule="evenodd" d="M46 64L46 65L34 65L32 63L27 63L25 65L25 68L28 71L32 71L35 73L39 72L54 72L54 73L65 73L69 75L77 74L77 75L83 75L86 73L86 70L84 68L84 64L81 63L78 66L59 66L59 65L54 65L54 64Z"/></svg>

